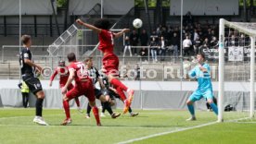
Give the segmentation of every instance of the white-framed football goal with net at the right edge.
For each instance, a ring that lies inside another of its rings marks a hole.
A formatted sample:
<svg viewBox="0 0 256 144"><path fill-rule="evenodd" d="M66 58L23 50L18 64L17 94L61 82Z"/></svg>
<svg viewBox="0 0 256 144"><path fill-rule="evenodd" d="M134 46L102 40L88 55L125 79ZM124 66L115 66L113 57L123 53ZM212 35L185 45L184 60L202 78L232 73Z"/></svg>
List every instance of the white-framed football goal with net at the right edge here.
<svg viewBox="0 0 256 144"><path fill-rule="evenodd" d="M256 122L256 23L220 19L218 121Z"/></svg>

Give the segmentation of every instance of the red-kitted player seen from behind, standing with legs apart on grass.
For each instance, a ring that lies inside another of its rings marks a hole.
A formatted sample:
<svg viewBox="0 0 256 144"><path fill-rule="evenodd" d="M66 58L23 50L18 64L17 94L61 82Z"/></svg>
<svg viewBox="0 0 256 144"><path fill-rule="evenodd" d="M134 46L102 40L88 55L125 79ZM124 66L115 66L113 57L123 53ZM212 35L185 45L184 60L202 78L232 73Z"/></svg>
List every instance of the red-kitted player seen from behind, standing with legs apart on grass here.
<svg viewBox="0 0 256 144"><path fill-rule="evenodd" d="M91 78L89 78L88 71L86 70L84 63L76 61L76 56L74 53L68 54L68 59L70 62L70 66L68 66L70 76L67 80L67 83L61 90L63 93L63 107L66 113L66 119L62 125L66 126L71 123L69 101L75 97L85 95L89 101L90 106L93 108L93 113L96 117L96 125L101 126L98 109L96 107L96 97L93 81ZM75 86L72 90L67 91L72 80L75 80Z"/></svg>

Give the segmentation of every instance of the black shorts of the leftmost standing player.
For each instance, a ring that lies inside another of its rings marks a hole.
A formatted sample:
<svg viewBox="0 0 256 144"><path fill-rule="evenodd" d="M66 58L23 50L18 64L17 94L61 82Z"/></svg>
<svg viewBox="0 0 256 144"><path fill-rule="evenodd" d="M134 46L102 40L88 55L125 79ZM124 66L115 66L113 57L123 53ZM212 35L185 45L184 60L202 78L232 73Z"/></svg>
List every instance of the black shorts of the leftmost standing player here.
<svg viewBox="0 0 256 144"><path fill-rule="evenodd" d="M38 78L34 78L31 75L24 75L22 76L22 79L25 81L34 95L36 95L38 91L43 90L42 84Z"/></svg>

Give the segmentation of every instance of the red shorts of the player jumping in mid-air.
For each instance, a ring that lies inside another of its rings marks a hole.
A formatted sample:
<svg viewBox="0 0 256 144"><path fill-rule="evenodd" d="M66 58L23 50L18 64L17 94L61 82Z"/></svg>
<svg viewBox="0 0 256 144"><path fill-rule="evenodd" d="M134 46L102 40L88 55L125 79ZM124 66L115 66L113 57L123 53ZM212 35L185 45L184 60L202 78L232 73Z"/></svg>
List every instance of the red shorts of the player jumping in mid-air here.
<svg viewBox="0 0 256 144"><path fill-rule="evenodd" d="M102 64L106 70L106 74L112 74L114 76L119 75L119 58L117 55L109 53L103 56Z"/></svg>

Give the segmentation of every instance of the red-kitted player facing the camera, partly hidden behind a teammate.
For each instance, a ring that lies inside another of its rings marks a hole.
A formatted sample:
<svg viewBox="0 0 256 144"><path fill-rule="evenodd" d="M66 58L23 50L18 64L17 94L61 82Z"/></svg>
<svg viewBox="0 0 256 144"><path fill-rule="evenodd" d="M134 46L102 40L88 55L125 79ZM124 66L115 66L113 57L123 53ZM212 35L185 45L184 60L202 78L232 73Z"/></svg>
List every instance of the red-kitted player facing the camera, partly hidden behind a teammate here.
<svg viewBox="0 0 256 144"><path fill-rule="evenodd" d="M65 86L65 84L66 84L66 82L67 82L67 80L68 80L68 78L69 78L69 76L70 76L68 67L65 66L65 61L59 61L59 62L58 62L58 67L55 69L53 75L52 75L51 78L50 78L50 84L49 84L50 87L52 87L53 80L54 80L54 78L55 78L57 75L59 76L59 87L60 87L60 89L62 89L62 88ZM74 87L74 86L70 83L70 86L68 87L68 90L73 89L73 87ZM75 103L76 103L76 105L77 105L77 110L78 110L80 113L83 113L82 109L80 108L79 99L78 99L77 97L74 98L74 99L75 99Z"/></svg>

